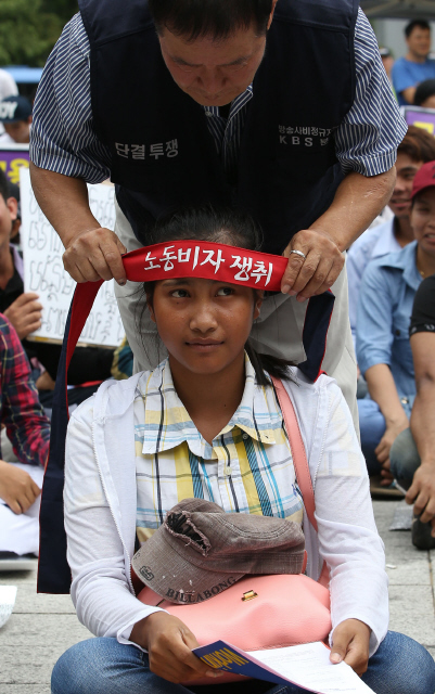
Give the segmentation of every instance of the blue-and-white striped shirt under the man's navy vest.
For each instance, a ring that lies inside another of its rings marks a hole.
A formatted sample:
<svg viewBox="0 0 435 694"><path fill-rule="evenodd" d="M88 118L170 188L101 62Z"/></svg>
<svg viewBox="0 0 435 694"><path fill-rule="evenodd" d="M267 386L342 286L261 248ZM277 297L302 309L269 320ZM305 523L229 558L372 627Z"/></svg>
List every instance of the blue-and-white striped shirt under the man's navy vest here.
<svg viewBox="0 0 435 694"><path fill-rule="evenodd" d="M88 36L80 14L76 14L49 56L38 88L30 158L43 169L100 183L110 178L111 152L93 129L89 54ZM376 38L361 10L355 28L355 101L334 131L335 153L345 174L375 176L394 165L407 125L382 65ZM204 106L229 180L236 171L252 97L251 85L231 103L228 119L221 117L218 106ZM299 94L294 97L298 99Z"/></svg>

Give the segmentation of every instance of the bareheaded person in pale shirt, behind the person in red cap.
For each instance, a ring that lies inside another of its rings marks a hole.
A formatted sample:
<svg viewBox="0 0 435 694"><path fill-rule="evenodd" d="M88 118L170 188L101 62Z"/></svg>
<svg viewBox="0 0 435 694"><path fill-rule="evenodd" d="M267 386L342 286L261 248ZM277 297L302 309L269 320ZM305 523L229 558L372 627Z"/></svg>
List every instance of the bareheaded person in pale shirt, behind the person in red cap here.
<svg viewBox="0 0 435 694"><path fill-rule="evenodd" d="M350 329L356 339L358 296L364 270L374 258L400 250L413 241L411 229L411 192L417 171L435 159L435 138L422 128L409 126L397 147L397 179L388 203L393 219L366 231L347 254Z"/></svg>

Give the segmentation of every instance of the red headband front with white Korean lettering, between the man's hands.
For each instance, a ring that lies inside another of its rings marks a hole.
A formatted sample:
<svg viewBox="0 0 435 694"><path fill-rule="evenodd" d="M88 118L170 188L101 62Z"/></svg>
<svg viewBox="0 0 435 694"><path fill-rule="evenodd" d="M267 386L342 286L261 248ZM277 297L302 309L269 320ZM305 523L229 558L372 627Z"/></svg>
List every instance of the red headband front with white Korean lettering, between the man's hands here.
<svg viewBox="0 0 435 694"><path fill-rule="evenodd" d="M280 291L287 266L283 256L207 241L157 243L127 253L123 262L133 282L203 278L269 292Z"/></svg>

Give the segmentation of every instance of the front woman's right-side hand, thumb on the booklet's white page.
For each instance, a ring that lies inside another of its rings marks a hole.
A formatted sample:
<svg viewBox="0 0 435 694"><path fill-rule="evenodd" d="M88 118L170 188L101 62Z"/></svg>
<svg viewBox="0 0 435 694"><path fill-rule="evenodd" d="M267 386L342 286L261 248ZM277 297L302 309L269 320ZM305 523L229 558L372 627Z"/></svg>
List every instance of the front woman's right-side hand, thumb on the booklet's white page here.
<svg viewBox="0 0 435 694"><path fill-rule="evenodd" d="M369 664L371 629L359 619L345 619L332 633L331 663L344 660L357 674L366 672Z"/></svg>

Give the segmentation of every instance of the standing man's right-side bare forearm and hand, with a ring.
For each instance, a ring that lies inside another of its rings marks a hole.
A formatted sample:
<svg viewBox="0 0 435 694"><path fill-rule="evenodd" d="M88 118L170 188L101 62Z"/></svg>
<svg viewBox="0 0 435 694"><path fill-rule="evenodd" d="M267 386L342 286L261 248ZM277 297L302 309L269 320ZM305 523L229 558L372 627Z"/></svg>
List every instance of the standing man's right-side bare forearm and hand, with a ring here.
<svg viewBox="0 0 435 694"><path fill-rule="evenodd" d="M332 205L309 229L295 234L284 250L289 258L281 291L304 300L322 294L343 269L350 244L387 204L396 180L396 167L366 177L355 171L340 184ZM291 250L302 250L306 260Z"/></svg>

